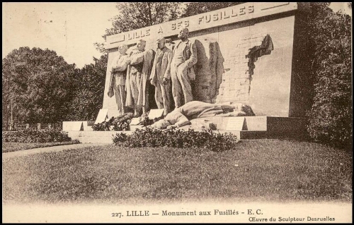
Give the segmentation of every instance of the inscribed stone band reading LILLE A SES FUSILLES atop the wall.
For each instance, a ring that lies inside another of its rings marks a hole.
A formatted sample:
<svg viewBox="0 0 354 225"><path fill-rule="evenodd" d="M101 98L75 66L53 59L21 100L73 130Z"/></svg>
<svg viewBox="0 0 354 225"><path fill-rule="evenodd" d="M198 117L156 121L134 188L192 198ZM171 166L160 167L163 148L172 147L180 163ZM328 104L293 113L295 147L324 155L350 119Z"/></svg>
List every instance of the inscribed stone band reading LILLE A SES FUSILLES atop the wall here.
<svg viewBox="0 0 354 225"><path fill-rule="evenodd" d="M253 4L251 2L246 4L239 4L237 6L222 8L217 11L202 13L200 15L190 16L188 18L181 18L178 20L161 23L159 25L152 25L150 27L142 28L135 31L132 30L117 35L107 36L107 42L109 43L107 48L116 48L118 47L118 44L120 44L120 42L125 42L125 44L132 44L139 39L149 39L154 35L163 35L165 37L177 35L178 28L180 28L181 26L188 28L190 32L195 32L196 30L212 28L215 26L226 25L229 23L236 23L242 20L258 18L260 16L268 16L274 13L292 11L296 8L296 2L287 2L286 4ZM260 13L261 11L262 13ZM264 11L266 13L263 13Z"/></svg>

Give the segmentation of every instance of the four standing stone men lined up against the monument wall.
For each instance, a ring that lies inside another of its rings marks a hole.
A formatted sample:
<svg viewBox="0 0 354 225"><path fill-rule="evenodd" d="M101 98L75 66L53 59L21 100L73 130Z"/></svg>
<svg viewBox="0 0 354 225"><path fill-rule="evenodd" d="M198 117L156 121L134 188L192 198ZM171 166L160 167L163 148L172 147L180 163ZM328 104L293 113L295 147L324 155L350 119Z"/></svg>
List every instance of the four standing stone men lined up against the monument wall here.
<svg viewBox="0 0 354 225"><path fill-rule="evenodd" d="M156 39L156 54L145 50L146 42L142 39L130 55L126 53L127 45L118 48L108 95L115 95L121 115L125 114L126 107L133 108L135 116L149 110L147 82L155 86L156 105L164 109L164 116L171 111L171 92L176 108L193 101L190 82L195 80L193 66L198 61L197 48L188 39L187 28L179 30L178 38L181 42L173 51L165 46L164 37Z"/></svg>

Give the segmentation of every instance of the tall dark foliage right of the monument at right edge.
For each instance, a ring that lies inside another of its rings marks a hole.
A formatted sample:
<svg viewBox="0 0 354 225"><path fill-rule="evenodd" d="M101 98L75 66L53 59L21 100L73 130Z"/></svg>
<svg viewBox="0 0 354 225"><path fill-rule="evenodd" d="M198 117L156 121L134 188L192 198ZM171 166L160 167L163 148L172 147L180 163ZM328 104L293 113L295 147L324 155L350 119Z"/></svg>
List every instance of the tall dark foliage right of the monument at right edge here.
<svg viewBox="0 0 354 225"><path fill-rule="evenodd" d="M312 3L309 16L315 83L308 130L314 140L345 146L353 135L351 19L328 6Z"/></svg>

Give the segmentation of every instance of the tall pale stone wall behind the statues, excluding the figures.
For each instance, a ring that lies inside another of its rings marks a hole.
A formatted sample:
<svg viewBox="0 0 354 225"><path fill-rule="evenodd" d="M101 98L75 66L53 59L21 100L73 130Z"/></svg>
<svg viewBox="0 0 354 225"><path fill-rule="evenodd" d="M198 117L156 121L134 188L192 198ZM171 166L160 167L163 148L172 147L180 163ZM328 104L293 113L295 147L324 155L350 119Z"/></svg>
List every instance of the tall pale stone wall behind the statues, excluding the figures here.
<svg viewBox="0 0 354 225"><path fill-rule="evenodd" d="M132 49L144 39L145 49L156 51L156 37L176 42L178 28L184 26L189 39L198 41L202 48L198 58L205 59L198 59L198 63L210 66L209 71L202 71L199 65L195 98L249 104L256 116L304 116L307 77L299 67L306 52L301 52L304 43L296 42L301 8L304 6L295 2L249 2L106 37L109 53L103 109L108 109L108 118L118 116L115 98L107 95L118 47L127 44Z"/></svg>

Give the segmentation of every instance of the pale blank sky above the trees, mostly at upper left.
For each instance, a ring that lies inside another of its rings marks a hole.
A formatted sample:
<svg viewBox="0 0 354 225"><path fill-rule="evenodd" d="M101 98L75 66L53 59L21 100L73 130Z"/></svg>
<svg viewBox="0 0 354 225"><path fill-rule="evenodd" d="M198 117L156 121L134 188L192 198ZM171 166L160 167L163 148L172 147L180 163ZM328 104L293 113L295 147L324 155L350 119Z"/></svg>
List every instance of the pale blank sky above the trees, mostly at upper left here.
<svg viewBox="0 0 354 225"><path fill-rule="evenodd" d="M93 63L101 53L94 42L104 42L110 18L118 15L115 3L2 3L2 59L19 47L40 47L57 52L77 68ZM347 3L333 3L334 11Z"/></svg>

